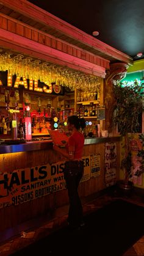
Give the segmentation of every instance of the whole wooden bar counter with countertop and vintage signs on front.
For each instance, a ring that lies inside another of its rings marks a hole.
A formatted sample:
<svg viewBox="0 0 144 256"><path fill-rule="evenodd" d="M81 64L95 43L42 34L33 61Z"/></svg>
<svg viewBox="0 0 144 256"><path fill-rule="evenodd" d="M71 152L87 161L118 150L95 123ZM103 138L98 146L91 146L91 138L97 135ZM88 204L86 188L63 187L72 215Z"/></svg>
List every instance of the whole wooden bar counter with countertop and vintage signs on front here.
<svg viewBox="0 0 144 256"><path fill-rule="evenodd" d="M108 181L119 180L120 144L120 136L85 139L81 198L111 185L107 184L106 168ZM68 204L63 176L65 160L52 149L51 139L0 145L0 232L43 214L53 214Z"/></svg>

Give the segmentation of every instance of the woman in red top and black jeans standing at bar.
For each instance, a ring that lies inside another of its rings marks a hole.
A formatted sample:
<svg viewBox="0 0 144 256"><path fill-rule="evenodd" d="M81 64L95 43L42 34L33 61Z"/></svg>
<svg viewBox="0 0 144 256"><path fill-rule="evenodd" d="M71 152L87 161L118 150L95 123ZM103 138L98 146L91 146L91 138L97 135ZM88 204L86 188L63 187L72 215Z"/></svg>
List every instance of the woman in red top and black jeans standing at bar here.
<svg viewBox="0 0 144 256"><path fill-rule="evenodd" d="M82 153L84 148L84 134L79 129L85 127L85 120L79 119L76 115L68 117L68 130L71 136L65 146L65 150L54 145L53 149L68 158L65 162L64 178L67 184L70 208L68 212L68 223L70 229L77 229L84 225L82 204L78 194L79 182L84 174L84 162Z"/></svg>

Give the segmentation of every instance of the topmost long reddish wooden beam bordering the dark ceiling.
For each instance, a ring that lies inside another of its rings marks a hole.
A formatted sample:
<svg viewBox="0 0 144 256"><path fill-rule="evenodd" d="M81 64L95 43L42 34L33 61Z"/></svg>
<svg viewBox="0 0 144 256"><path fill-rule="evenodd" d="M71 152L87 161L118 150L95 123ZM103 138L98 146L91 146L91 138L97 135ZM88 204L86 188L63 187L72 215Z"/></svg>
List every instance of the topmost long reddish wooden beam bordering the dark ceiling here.
<svg viewBox="0 0 144 256"><path fill-rule="evenodd" d="M60 18L57 18L56 16L46 12L43 9L40 9L36 5L31 4L26 0L0 0L0 4L3 4L10 9L15 10L16 12L22 13L23 15L28 16L29 18L38 21L45 26L48 25L54 29L57 29L57 31L62 32L68 37L84 43L85 45L88 45L101 53L107 54L107 56L111 56L116 60L120 60L128 64L133 63L132 58L127 54L124 54L112 46L109 46L106 43L93 38L91 35L88 35L80 29L77 29L71 24L61 20Z"/></svg>

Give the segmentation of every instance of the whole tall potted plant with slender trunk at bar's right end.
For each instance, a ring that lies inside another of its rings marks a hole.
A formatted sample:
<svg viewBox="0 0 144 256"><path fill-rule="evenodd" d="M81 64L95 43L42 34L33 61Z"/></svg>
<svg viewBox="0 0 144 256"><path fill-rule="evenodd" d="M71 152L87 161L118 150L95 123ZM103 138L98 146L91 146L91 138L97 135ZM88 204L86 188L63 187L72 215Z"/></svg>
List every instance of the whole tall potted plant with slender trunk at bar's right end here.
<svg viewBox="0 0 144 256"><path fill-rule="evenodd" d="M124 139L124 157L121 160L121 169L124 170L124 180L120 186L130 189L132 182L132 157L129 141L139 129L139 117L143 111L142 85L137 80L133 84L118 82L113 84L113 93L117 104L113 109L113 123Z"/></svg>

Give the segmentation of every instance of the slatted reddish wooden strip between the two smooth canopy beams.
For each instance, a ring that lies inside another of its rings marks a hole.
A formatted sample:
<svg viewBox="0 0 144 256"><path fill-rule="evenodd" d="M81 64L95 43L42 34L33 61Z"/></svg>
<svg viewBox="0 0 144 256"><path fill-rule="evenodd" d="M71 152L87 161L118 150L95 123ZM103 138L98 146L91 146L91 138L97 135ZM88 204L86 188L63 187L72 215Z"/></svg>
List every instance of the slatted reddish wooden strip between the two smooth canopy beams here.
<svg viewBox="0 0 144 256"><path fill-rule="evenodd" d="M52 35L49 35L43 31L35 29L32 26L29 26L21 21L15 20L10 16L0 13L0 27L9 32L12 32L22 37L29 38L35 42L41 43L43 45L49 46L51 48L58 49L64 53L68 53L80 59L87 60L93 64L99 65L104 68L109 68L109 60L104 59L103 57L96 56L84 49L81 49L77 46L71 45L68 42L60 40Z"/></svg>

